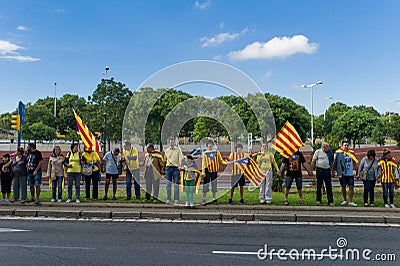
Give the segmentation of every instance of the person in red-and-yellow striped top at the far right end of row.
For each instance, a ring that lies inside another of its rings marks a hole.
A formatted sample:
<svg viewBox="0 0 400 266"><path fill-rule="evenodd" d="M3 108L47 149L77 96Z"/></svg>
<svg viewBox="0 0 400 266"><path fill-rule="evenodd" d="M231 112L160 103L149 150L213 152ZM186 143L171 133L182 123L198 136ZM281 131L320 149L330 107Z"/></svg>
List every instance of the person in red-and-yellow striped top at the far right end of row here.
<svg viewBox="0 0 400 266"><path fill-rule="evenodd" d="M399 170L397 162L392 157L389 149L383 149L383 156L378 161L378 182L382 182L383 189L383 203L385 208L396 208L394 205L394 187L395 182L399 181ZM388 204L388 192L389 203Z"/></svg>

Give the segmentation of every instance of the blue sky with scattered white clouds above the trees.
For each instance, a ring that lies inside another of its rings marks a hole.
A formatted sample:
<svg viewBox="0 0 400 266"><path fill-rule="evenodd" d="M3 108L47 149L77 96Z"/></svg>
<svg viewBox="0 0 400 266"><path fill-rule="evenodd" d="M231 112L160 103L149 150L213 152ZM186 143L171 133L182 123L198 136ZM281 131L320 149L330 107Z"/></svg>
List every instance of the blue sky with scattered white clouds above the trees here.
<svg viewBox="0 0 400 266"><path fill-rule="evenodd" d="M0 113L18 100L131 90L187 60L217 60L264 92L323 113L324 98L400 112L400 1L0 1ZM184 86L183 86L184 87ZM190 88L188 88L190 91ZM209 90L209 91L207 91ZM226 94L204 88L204 94Z"/></svg>

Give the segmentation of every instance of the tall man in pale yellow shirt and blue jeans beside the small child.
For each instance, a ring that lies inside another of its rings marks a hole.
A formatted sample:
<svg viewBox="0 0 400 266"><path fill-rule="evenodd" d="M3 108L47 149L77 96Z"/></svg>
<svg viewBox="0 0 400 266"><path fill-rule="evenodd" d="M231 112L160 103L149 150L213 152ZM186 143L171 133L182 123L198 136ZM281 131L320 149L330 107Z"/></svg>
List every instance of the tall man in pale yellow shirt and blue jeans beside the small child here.
<svg viewBox="0 0 400 266"><path fill-rule="evenodd" d="M167 201L171 203L171 186L174 183L174 203L179 204L179 168L182 166L183 153L175 147L174 138L169 139L169 147L165 150L166 166L165 178L167 179ZM183 185L183 184L182 184Z"/></svg>

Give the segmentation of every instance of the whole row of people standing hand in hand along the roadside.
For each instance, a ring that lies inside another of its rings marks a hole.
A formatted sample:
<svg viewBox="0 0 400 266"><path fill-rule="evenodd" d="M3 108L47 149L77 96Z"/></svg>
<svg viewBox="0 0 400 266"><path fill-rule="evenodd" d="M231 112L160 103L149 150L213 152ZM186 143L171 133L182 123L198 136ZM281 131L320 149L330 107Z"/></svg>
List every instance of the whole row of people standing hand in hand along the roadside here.
<svg viewBox="0 0 400 266"><path fill-rule="evenodd" d="M330 150L329 144L324 142L317 149L311 163L308 164L304 155L296 151L288 158L282 160L278 167L273 153L268 151L268 145L262 144L257 153L243 152L241 144L236 145L235 151L224 159L221 153L215 149L215 143L209 139L206 142L207 150L202 154L202 168L200 169L194 158L184 156L181 149L175 145L175 140L169 140L169 147L161 152L153 144L146 146L144 160L139 162L138 150L130 142L123 143L123 149L115 148L100 158L96 151L85 148L79 151L77 143L71 144L70 151L63 154L59 146L55 146L48 160L47 176L51 189L51 201L62 202L64 184L68 186L68 198L66 202L73 201L73 189L75 187L75 202L81 201L80 184L85 184L85 199L98 200L99 181L101 174L105 173L105 195L103 200L108 200L109 186L112 180L112 200L116 200L117 180L125 170L126 200L132 199L132 184L136 200L141 199L140 167L144 167L145 202L159 201L160 180L166 178L166 203L179 204L180 188L183 186L186 192L185 206L194 206L194 191L202 181L203 200L207 204L207 193L211 184L211 196L213 203L217 203L218 173L223 165L232 165L231 189L228 204L233 204L235 188L239 187L239 204L244 204L244 186L246 183L243 168L240 167L240 159L253 158L260 170L265 174L259 185L260 204L271 204L273 171L277 176L284 175L285 191L284 205L289 205L289 192L293 181L299 195L299 202L306 204L303 199L302 172L305 170L310 177L316 176L316 205L322 204L322 190L326 190L327 205L334 206L332 192L332 178L337 176L341 186L343 201L341 205L357 206L353 201L354 180L361 179L364 185L363 200L365 206L374 206L374 192L376 183L382 184L383 202L386 208L396 208L394 205L394 189L399 180L399 170L396 160L391 156L387 148L383 150L381 157L376 158L374 150L369 150L365 157L358 162L354 151L349 149L347 141L336 151ZM0 162L1 192L3 202L34 202L40 203L42 183L42 153L36 149L34 143L29 143L27 150L18 148L14 154L4 154ZM27 189L30 189L28 200ZM11 197L11 187L13 197ZM172 188L174 189L172 197Z"/></svg>

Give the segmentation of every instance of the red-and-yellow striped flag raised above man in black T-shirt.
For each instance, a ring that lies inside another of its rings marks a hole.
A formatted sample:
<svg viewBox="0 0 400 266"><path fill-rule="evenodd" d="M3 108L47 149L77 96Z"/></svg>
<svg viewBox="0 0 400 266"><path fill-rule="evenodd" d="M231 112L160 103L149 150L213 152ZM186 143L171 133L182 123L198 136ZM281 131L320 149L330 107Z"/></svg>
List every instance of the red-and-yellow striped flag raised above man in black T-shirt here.
<svg viewBox="0 0 400 266"><path fill-rule="evenodd" d="M271 142L271 145L283 157L289 158L293 153L298 151L300 147L303 147L304 143L292 124L286 121L275 139Z"/></svg>

